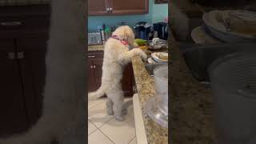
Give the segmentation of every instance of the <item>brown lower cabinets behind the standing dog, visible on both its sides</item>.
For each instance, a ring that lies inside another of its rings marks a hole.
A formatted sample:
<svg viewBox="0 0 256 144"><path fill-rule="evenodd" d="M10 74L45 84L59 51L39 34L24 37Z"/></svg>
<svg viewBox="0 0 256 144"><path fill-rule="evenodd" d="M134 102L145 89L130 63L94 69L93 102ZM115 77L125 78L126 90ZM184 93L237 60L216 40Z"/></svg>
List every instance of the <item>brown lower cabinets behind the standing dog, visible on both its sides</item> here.
<svg viewBox="0 0 256 144"><path fill-rule="evenodd" d="M98 90L102 82L103 51L89 51L89 82L88 91ZM131 63L126 66L122 78L122 90L126 97L133 96L133 69Z"/></svg>

